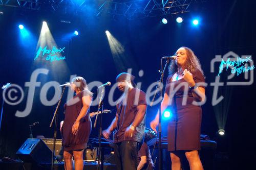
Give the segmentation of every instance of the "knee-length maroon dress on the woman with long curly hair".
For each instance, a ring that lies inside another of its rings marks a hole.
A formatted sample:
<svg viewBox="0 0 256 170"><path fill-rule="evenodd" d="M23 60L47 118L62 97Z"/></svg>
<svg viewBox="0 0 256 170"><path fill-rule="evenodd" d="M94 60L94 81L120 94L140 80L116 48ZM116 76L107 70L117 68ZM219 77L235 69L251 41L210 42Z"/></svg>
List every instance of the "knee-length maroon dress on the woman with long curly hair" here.
<svg viewBox="0 0 256 170"><path fill-rule="evenodd" d="M191 72L191 74L193 74L193 79L196 83L205 82L204 76L200 70ZM172 77L173 75L170 75L167 78L165 87L165 92L169 97L172 94L174 95L173 100L168 106L168 109L173 113L168 124L168 151L200 150L201 106L192 104L195 99L190 89L188 89L187 94L185 94L187 101L185 105L182 105L185 91L184 86L177 88L178 90L176 89L177 91L175 93L173 89L181 85L181 83L187 82L184 79L172 82ZM200 87L205 88L204 86Z"/></svg>

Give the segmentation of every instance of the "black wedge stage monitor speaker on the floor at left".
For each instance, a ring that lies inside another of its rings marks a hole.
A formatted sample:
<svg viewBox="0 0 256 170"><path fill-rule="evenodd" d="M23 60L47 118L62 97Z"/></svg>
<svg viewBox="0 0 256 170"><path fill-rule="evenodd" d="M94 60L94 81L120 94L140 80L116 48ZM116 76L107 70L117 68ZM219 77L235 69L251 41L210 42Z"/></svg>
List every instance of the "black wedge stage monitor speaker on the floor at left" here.
<svg viewBox="0 0 256 170"><path fill-rule="evenodd" d="M16 152L24 162L51 163L52 151L40 138L28 138Z"/></svg>

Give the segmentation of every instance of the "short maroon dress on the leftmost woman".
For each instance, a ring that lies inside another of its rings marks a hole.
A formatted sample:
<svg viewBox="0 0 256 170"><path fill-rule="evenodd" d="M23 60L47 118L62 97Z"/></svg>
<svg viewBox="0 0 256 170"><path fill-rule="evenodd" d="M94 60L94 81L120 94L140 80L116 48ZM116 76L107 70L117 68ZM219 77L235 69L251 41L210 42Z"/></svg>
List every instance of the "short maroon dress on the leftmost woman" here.
<svg viewBox="0 0 256 170"><path fill-rule="evenodd" d="M64 151L78 151L87 148L87 142L92 129L92 121L89 115L90 108L86 116L80 120L78 133L76 135L72 134L72 126L83 107L82 97L85 95L90 95L92 98L91 92L86 89L76 94L64 105L66 109L62 126L62 146Z"/></svg>

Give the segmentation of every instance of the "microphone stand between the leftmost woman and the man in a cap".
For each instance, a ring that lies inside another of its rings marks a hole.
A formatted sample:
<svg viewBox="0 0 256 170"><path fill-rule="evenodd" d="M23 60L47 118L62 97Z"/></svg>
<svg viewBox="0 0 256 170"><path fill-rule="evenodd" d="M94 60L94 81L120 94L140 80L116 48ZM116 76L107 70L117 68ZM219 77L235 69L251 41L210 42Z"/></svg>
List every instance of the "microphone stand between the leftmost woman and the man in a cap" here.
<svg viewBox="0 0 256 170"><path fill-rule="evenodd" d="M99 111L101 110L101 113L103 113L103 101L102 100L103 100L104 91L105 91L105 87L103 87L101 92L100 92L98 111L97 111L95 122L94 122L94 126L93 126L94 128L96 127L97 117L99 115L99 156L98 156L97 169L100 169L100 170L103 170L103 166L104 166L103 157L104 157L104 155L102 155L102 152L101 152L102 114L99 114Z"/></svg>

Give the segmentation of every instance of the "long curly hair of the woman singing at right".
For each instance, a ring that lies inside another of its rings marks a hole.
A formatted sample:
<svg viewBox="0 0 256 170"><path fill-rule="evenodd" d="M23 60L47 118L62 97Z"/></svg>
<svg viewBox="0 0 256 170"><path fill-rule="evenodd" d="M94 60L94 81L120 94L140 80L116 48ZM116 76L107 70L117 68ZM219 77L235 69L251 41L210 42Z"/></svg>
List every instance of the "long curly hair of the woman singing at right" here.
<svg viewBox="0 0 256 170"><path fill-rule="evenodd" d="M190 48L185 47L185 46L182 46L180 48L185 48L186 55L187 55L186 61L184 63L185 64L184 68L186 68L190 72L195 72L198 69L203 74L201 64L200 64L197 56L194 54L194 52ZM177 71L178 71L178 66L175 63L175 60L172 60L169 65L169 75L173 75Z"/></svg>

